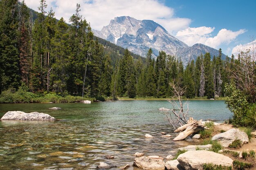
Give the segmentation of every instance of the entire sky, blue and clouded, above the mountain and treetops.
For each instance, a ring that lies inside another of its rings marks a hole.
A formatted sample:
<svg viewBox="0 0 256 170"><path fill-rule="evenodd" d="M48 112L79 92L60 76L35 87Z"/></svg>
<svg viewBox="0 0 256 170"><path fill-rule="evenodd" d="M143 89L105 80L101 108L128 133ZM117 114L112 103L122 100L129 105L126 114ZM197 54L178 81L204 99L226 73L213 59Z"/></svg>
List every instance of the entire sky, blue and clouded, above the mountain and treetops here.
<svg viewBox="0 0 256 170"><path fill-rule="evenodd" d="M38 11L40 0L25 0ZM237 55L256 39L256 0L46 0L55 17L69 22L76 3L92 29L101 30L110 20L130 16L153 20L189 46L202 43ZM256 41L255 41L256 43Z"/></svg>

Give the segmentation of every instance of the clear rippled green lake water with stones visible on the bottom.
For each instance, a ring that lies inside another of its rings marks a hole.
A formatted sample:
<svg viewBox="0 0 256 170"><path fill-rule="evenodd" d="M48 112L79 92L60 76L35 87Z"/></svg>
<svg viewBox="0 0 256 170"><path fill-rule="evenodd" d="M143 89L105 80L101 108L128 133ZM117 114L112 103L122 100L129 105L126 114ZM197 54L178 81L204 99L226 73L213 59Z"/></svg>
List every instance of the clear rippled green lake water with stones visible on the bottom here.
<svg viewBox="0 0 256 170"><path fill-rule="evenodd" d="M61 107L61 110L49 110ZM47 113L61 121L0 121L0 170L94 170L103 161L117 167L132 163L135 152L166 157L198 141L172 141L172 128L158 108L167 101L116 101L92 104L0 104L7 111ZM194 119L223 121L232 114L224 101L190 101ZM155 136L145 139L148 133ZM111 155L115 159L106 159ZM116 168L112 168L116 169Z"/></svg>

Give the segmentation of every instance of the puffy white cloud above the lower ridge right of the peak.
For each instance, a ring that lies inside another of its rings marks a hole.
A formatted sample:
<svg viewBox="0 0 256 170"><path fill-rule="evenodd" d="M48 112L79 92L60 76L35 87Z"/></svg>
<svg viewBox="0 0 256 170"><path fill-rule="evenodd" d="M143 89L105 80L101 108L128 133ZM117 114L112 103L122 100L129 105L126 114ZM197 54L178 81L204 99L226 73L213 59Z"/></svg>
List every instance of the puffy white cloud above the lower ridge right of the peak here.
<svg viewBox="0 0 256 170"><path fill-rule="evenodd" d="M201 26L197 28L190 28L178 31L176 37L189 46L196 43L202 43L212 48L218 49L221 44L229 44L236 37L242 33L245 33L245 29L239 31L231 31L227 29L221 29L218 34L212 37L211 33L214 31L214 27Z"/></svg>

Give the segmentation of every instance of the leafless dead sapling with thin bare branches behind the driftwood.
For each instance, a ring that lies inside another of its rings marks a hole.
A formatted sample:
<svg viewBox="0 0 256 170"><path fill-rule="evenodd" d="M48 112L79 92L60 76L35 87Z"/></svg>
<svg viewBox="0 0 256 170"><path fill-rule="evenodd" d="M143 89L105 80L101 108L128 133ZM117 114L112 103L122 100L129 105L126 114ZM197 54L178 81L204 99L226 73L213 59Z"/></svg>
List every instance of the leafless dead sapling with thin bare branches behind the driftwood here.
<svg viewBox="0 0 256 170"><path fill-rule="evenodd" d="M171 109L171 112L164 111L164 115L176 130L180 126L188 123L189 103L188 101L183 103L182 95L185 92L185 88L181 88L174 81L169 83L173 89L174 96L173 99L168 99L168 102L171 103L173 108Z"/></svg>

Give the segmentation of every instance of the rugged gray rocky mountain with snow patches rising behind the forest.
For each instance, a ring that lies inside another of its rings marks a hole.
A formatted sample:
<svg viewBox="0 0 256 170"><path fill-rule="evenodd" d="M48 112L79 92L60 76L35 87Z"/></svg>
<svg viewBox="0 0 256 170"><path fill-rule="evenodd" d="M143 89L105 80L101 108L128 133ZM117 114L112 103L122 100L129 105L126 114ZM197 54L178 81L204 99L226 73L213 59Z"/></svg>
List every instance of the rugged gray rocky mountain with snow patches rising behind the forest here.
<svg viewBox="0 0 256 170"><path fill-rule="evenodd" d="M164 27L152 20L136 20L129 16L116 17L101 31L93 30L94 35L108 40L118 46L127 48L135 54L146 56L148 49L153 50L153 57L159 51L175 55L186 65L198 55L209 52L218 56L219 51L203 44L188 46L172 36ZM222 53L222 59L225 54Z"/></svg>

